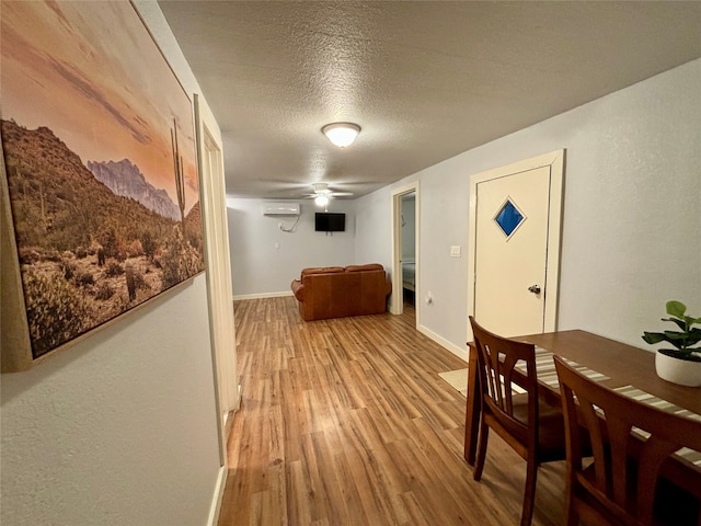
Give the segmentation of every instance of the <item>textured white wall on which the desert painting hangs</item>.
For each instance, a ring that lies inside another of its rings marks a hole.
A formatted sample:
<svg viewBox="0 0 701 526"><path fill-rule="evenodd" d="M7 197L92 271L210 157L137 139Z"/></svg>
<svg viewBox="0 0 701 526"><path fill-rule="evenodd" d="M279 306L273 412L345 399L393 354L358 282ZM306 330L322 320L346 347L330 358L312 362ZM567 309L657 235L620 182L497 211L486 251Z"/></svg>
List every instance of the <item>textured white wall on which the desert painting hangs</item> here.
<svg viewBox="0 0 701 526"><path fill-rule="evenodd" d="M156 2L137 5L199 91ZM219 445L205 275L2 375L0 523L206 524Z"/></svg>

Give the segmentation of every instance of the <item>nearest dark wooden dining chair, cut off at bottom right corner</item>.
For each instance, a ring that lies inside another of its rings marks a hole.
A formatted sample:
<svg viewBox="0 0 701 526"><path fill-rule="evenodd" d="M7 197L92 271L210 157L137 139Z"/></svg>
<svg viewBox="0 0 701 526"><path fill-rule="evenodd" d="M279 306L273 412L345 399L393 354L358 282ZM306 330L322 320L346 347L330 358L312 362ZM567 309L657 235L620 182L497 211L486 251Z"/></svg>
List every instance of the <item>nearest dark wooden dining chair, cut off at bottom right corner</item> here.
<svg viewBox="0 0 701 526"><path fill-rule="evenodd" d="M581 517L587 524L701 525L698 499L660 477L681 447L701 450L701 422L608 389L559 356L554 362L567 438L567 526ZM583 436L594 462L583 461Z"/></svg>

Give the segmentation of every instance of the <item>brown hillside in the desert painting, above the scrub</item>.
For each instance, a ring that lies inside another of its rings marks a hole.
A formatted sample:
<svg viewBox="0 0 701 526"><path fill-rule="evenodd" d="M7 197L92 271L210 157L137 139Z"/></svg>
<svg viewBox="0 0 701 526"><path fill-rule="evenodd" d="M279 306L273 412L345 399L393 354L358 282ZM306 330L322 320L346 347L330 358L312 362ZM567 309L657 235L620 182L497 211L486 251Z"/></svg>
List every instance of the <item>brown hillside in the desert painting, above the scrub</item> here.
<svg viewBox="0 0 701 526"><path fill-rule="evenodd" d="M27 129L2 121L2 142L20 247L76 250L107 230L127 242L143 230L174 225L137 201L115 195L46 126Z"/></svg>

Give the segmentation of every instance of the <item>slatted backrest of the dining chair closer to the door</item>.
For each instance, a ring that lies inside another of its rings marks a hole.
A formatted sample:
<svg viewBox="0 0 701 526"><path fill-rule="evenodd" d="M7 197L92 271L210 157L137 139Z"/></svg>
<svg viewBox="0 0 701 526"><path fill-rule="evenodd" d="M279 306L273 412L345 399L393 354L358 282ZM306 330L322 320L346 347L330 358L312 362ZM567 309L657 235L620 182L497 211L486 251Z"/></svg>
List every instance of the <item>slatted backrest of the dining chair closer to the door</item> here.
<svg viewBox="0 0 701 526"><path fill-rule="evenodd" d="M536 447L538 379L535 345L494 334L474 321L473 317L470 317L470 324L478 350L482 410L492 413L502 426L518 435L520 442ZM527 422L514 415L514 385L528 393Z"/></svg>

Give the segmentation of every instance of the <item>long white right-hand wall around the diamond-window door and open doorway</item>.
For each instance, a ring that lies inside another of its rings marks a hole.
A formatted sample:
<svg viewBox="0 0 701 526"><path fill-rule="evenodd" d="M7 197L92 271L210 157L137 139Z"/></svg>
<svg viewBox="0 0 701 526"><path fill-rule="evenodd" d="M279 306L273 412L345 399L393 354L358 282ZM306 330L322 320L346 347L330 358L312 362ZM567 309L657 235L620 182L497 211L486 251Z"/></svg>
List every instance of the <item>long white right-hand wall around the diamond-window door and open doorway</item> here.
<svg viewBox="0 0 701 526"><path fill-rule="evenodd" d="M464 348L471 174L566 148L559 329L645 347L668 299L701 313L701 60L461 153L421 182L422 325ZM356 254L388 264L390 192L357 199ZM367 219L366 219L367 218ZM358 221L360 224L360 220ZM449 245L463 258L449 258Z"/></svg>

